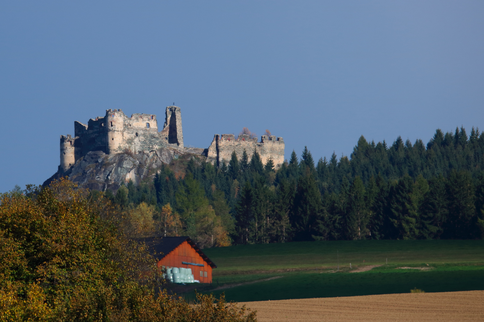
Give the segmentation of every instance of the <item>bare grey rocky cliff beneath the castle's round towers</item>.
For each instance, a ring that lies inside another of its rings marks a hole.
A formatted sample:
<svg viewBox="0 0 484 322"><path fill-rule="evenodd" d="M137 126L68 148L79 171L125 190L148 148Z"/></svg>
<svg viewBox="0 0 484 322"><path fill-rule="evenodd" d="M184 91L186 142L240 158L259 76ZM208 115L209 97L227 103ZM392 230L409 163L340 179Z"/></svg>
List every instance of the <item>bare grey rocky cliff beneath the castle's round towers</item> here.
<svg viewBox="0 0 484 322"><path fill-rule="evenodd" d="M100 191L110 189L116 192L121 183L132 180L137 185L141 180L150 176L153 177L162 164L169 164L173 159L186 153L197 154L199 151L171 147L138 154L105 154L102 151L91 151L78 159L74 166L66 171L59 167L59 170L43 185L48 185L55 179L67 176L79 187Z"/></svg>

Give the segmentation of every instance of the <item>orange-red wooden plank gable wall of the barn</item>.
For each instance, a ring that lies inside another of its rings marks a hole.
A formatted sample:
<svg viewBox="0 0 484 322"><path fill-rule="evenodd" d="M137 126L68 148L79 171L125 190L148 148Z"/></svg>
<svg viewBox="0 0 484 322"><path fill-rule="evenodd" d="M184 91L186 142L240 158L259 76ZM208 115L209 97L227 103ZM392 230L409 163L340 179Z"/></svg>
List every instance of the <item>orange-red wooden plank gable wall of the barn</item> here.
<svg viewBox="0 0 484 322"><path fill-rule="evenodd" d="M181 262L203 264L204 266L186 265ZM167 254L158 262L159 266L171 267L185 267L191 268L193 278L199 280L200 283L212 283L212 267L208 265L203 258L193 249L187 241L184 241L177 248ZM200 276L202 272L202 276ZM205 272L207 276L205 277Z"/></svg>

